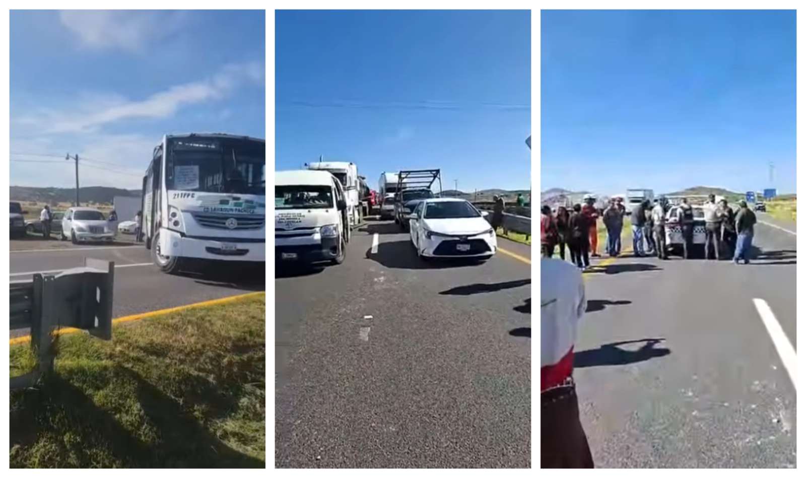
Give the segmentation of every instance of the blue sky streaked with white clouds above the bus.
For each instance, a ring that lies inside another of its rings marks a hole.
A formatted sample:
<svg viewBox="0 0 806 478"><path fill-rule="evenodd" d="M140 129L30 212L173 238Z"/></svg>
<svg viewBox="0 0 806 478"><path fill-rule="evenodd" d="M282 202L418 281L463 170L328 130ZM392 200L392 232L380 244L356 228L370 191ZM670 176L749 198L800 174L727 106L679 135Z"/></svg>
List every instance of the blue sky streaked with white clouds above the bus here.
<svg viewBox="0 0 806 478"><path fill-rule="evenodd" d="M139 189L164 134L264 138L265 44L263 10L12 10L11 185L75 187L69 152Z"/></svg>

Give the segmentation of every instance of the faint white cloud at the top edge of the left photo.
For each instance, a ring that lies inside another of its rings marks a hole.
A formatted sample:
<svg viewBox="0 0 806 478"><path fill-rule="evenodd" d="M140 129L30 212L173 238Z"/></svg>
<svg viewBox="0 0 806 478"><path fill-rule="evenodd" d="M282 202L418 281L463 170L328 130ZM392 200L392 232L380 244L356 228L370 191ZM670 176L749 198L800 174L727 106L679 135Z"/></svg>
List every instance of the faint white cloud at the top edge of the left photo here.
<svg viewBox="0 0 806 478"><path fill-rule="evenodd" d="M87 48L121 48L143 53L147 44L170 35L185 12L145 10L61 10L59 19Z"/></svg>

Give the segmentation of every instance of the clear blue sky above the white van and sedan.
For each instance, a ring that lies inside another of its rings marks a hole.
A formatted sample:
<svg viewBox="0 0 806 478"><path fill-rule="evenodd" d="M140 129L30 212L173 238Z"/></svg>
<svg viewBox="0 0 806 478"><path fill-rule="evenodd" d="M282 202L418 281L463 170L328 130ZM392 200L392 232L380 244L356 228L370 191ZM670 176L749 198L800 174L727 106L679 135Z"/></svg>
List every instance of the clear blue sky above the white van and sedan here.
<svg viewBox="0 0 806 478"><path fill-rule="evenodd" d="M528 11L278 11L276 169L441 168L443 189L530 186Z"/></svg>

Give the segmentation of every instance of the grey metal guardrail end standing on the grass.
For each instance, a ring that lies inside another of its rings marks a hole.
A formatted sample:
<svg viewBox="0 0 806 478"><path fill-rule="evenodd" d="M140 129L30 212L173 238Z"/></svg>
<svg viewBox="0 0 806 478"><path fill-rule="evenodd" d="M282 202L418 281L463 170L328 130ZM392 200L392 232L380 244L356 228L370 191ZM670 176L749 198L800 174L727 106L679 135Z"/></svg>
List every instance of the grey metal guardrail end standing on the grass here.
<svg viewBox="0 0 806 478"><path fill-rule="evenodd" d="M52 372L59 327L87 330L99 339L112 339L114 262L86 258L84 267L57 275L34 274L33 281L10 285L10 330L31 329L33 371L13 376L11 389L34 385Z"/></svg>

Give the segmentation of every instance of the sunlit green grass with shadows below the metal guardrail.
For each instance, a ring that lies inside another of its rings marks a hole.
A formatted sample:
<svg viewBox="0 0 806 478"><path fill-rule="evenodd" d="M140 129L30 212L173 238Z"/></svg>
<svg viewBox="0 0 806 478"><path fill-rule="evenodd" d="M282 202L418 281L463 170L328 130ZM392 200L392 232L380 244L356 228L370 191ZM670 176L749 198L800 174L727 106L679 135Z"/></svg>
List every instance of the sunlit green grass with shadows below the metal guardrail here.
<svg viewBox="0 0 806 478"><path fill-rule="evenodd" d="M62 335L10 393L12 468L264 468L265 296ZM10 348L12 376L33 364Z"/></svg>

